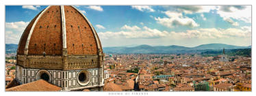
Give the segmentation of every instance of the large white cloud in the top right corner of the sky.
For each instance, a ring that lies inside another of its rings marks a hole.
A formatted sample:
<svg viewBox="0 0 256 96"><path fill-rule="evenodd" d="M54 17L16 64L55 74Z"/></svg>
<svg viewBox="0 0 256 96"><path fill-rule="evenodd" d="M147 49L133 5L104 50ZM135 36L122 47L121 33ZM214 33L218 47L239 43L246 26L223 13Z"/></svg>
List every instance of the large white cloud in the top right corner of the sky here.
<svg viewBox="0 0 256 96"><path fill-rule="evenodd" d="M233 18L236 20L243 20L244 22L251 23L251 5L242 6L218 6L217 14L222 18Z"/></svg>

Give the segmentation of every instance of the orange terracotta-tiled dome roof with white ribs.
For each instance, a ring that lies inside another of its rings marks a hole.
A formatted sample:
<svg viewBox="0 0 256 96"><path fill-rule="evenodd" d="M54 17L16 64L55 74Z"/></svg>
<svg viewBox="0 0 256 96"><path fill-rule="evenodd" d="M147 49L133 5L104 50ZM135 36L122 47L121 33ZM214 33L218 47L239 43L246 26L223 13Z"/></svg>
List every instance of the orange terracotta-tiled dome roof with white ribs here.
<svg viewBox="0 0 256 96"><path fill-rule="evenodd" d="M21 36L18 54L98 54L99 37L86 16L69 5L50 5L40 12Z"/></svg>

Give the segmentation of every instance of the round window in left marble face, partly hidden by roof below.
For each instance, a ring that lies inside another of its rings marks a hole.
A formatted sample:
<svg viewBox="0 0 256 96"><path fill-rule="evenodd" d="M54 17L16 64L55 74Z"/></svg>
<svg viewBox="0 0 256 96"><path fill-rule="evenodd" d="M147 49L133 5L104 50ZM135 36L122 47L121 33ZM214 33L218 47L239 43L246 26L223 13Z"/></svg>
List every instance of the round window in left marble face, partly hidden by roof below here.
<svg viewBox="0 0 256 96"><path fill-rule="evenodd" d="M47 70L42 69L36 74L36 80L40 79L51 82L51 74Z"/></svg>

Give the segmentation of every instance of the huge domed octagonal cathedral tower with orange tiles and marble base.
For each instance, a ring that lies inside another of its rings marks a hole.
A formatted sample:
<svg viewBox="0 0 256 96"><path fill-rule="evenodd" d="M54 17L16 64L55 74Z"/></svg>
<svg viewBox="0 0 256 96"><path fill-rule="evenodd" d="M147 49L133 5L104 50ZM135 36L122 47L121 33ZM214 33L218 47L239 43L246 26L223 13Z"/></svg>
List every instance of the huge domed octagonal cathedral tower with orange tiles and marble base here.
<svg viewBox="0 0 256 96"><path fill-rule="evenodd" d="M75 7L50 5L27 25L17 50L16 80L46 80L62 91L103 87L103 50L89 20Z"/></svg>

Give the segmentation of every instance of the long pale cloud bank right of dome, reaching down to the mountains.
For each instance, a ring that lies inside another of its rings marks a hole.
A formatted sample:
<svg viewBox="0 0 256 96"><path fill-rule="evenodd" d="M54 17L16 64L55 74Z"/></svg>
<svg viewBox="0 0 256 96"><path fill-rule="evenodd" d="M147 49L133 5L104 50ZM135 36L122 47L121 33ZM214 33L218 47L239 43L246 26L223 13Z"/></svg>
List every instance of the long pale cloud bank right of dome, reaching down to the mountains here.
<svg viewBox="0 0 256 96"><path fill-rule="evenodd" d="M251 45L250 27L242 27L241 29L193 29L176 32L159 31L158 29L144 26L136 31L106 31L98 34L103 46L125 46L131 44L198 46L199 44L209 43L239 46Z"/></svg>

